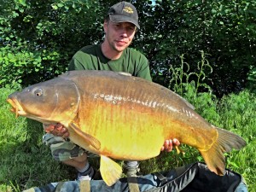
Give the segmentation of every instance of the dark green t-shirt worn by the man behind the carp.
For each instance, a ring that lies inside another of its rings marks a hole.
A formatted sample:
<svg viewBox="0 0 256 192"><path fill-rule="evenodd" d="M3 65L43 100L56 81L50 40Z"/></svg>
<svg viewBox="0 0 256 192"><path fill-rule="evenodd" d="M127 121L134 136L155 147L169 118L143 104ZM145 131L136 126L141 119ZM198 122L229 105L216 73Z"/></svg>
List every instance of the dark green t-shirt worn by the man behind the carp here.
<svg viewBox="0 0 256 192"><path fill-rule="evenodd" d="M111 61L102 53L102 44L80 49L69 63L68 70L107 70L131 73L132 76L152 81L148 59L135 49L127 48L118 60Z"/></svg>

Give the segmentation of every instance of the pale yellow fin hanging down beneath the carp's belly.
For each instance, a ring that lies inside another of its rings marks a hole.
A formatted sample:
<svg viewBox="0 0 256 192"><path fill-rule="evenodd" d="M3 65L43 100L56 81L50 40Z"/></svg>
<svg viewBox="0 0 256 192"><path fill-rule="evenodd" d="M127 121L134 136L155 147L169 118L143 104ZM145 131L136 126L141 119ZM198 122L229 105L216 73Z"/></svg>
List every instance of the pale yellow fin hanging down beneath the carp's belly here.
<svg viewBox="0 0 256 192"><path fill-rule="evenodd" d="M122 167L110 158L101 155L100 172L102 174L104 182L108 186L111 186L113 185L113 183L116 183L117 180L119 180L119 178L121 177Z"/></svg>

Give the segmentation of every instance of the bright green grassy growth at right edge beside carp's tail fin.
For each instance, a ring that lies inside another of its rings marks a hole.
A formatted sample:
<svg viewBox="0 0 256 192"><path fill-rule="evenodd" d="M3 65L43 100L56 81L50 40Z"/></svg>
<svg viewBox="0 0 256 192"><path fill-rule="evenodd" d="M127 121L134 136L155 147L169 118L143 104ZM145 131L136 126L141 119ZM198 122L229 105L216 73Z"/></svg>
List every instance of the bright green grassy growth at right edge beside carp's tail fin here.
<svg viewBox="0 0 256 192"><path fill-rule="evenodd" d="M247 141L247 147L240 152L229 154L228 167L240 172L249 185L249 191L255 191L256 172L256 97L248 90L239 94L224 96L219 102L218 113L221 119L218 125L239 134ZM249 154L249 155L248 155ZM250 190L251 189L251 190Z"/></svg>

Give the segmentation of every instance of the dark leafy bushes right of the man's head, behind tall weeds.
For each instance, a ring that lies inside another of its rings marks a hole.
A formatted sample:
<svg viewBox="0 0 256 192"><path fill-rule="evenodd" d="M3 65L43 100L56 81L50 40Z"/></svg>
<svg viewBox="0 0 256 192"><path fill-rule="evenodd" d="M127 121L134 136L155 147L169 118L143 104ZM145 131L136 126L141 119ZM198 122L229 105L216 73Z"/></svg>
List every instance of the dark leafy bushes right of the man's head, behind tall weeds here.
<svg viewBox="0 0 256 192"><path fill-rule="evenodd" d="M217 96L245 86L255 66L255 1L156 1L140 8L149 11L135 44L147 53L155 81L169 84L170 65L180 66L178 55L185 55L194 71L204 50L215 72L206 82Z"/></svg>

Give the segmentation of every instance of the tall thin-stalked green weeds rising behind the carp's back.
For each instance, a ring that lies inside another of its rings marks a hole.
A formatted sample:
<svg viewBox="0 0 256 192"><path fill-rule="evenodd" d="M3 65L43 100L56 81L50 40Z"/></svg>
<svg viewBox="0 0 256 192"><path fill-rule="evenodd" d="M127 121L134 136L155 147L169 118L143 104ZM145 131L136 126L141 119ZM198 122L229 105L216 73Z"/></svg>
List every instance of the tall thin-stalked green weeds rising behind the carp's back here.
<svg viewBox="0 0 256 192"><path fill-rule="evenodd" d="M207 61L207 54L204 51L200 52L201 61L198 61L196 71L189 71L189 63L184 61L183 55L180 56L180 67L170 67L172 79L169 83L169 89L174 90L177 94L197 106L195 110L205 119L214 121L218 119L218 113L216 112L217 98L212 94L212 88L205 83L206 77L212 73L212 67ZM187 69L185 70L184 68Z"/></svg>

